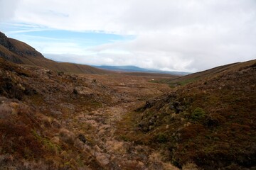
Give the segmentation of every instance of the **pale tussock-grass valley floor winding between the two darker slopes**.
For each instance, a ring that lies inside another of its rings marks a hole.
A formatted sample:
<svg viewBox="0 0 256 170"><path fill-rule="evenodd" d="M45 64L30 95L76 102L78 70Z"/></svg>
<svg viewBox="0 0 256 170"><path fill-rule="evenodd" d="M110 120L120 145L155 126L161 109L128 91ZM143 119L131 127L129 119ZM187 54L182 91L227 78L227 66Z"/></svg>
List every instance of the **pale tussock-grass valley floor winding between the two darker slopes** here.
<svg viewBox="0 0 256 170"><path fill-rule="evenodd" d="M122 74L109 76L87 75L90 79L106 84L117 93L117 102L112 106L98 108L96 111L76 114L70 128L82 131L82 125L90 127L87 137L96 145L86 145L87 152L94 155L97 162L107 169L177 169L162 162L161 155L145 145L134 145L120 138L116 133L119 123L127 114L143 106L146 99L164 94L170 88L166 84L149 83L150 77L130 77ZM78 128L80 127L80 128Z"/></svg>

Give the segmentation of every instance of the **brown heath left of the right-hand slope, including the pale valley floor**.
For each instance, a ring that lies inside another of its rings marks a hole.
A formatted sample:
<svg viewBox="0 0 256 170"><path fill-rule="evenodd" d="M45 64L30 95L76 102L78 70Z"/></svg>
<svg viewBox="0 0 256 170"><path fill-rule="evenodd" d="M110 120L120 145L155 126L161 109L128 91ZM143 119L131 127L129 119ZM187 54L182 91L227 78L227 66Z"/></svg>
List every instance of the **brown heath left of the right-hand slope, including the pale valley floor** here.
<svg viewBox="0 0 256 170"><path fill-rule="evenodd" d="M176 169L117 132L129 113L170 90L149 82L163 77L63 74L0 62L1 169Z"/></svg>

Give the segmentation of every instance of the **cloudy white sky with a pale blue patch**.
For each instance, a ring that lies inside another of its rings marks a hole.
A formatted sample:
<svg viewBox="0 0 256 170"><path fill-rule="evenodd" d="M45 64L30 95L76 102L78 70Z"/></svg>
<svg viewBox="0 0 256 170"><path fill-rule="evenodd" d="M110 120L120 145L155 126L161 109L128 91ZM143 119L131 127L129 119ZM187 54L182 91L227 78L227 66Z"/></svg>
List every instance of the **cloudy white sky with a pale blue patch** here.
<svg viewBox="0 0 256 170"><path fill-rule="evenodd" d="M0 31L55 61L198 72L256 58L256 1L0 0Z"/></svg>

